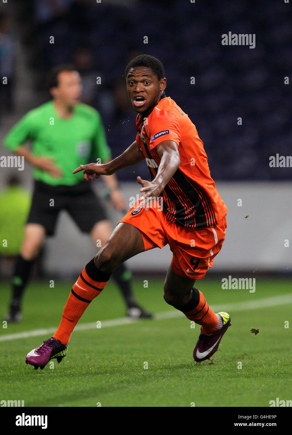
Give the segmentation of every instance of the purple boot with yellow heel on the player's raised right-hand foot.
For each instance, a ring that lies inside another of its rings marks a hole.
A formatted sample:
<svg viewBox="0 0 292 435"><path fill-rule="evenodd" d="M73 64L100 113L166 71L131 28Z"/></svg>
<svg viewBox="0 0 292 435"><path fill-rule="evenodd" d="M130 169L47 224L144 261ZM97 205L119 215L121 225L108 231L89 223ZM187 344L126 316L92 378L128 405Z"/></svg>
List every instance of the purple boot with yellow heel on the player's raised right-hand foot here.
<svg viewBox="0 0 292 435"><path fill-rule="evenodd" d="M227 331L230 323L230 315L225 312L218 313L222 319L222 328L214 332L214 334L206 335L201 332L199 339L197 341L196 347L194 349L194 360L201 362L205 359L209 359L217 350L221 338Z"/></svg>

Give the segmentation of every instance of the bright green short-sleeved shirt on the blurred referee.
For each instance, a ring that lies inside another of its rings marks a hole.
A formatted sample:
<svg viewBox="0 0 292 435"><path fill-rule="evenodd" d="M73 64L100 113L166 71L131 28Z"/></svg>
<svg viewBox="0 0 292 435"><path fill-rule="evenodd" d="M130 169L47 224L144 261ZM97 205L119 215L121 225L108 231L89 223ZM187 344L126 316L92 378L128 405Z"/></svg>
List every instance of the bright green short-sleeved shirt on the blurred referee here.
<svg viewBox="0 0 292 435"><path fill-rule="evenodd" d="M26 141L32 142L32 153L36 156L55 159L55 165L63 171L55 178L37 167L34 178L51 185L74 185L83 180L83 171L72 174L89 158L110 159L111 151L102 124L101 116L93 107L78 103L70 119L57 115L53 101L30 110L4 138L4 145L11 151L17 150Z"/></svg>

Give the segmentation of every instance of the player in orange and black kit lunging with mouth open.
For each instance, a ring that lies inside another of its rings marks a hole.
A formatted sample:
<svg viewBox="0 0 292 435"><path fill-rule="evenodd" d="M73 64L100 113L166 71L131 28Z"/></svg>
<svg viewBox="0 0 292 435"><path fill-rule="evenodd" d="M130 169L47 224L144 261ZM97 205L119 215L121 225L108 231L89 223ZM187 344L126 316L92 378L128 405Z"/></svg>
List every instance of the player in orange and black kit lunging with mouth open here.
<svg viewBox="0 0 292 435"><path fill-rule="evenodd" d="M75 325L119 264L166 244L173 258L164 281L164 300L201 325L195 361L204 361L217 351L230 325L230 315L214 313L194 287L222 247L227 213L211 178L202 141L188 115L166 97L164 68L158 59L135 57L125 77L128 96L138 113L136 141L106 164L80 165L73 172L84 171L85 180L94 180L145 159L151 181L137 177L140 200L84 267L53 337L27 354L26 363L34 368L43 368L52 358L58 362L64 358Z"/></svg>

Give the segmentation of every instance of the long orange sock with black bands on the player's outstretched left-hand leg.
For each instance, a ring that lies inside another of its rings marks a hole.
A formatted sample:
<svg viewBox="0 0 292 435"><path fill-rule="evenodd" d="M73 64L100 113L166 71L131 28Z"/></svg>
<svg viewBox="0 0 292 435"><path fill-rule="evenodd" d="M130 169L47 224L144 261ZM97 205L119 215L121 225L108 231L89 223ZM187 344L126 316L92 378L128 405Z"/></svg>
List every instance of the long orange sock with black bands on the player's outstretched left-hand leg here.
<svg viewBox="0 0 292 435"><path fill-rule="evenodd" d="M67 345L75 325L90 302L101 293L111 274L99 270L92 259L79 275L67 299L59 328L53 337Z"/></svg>

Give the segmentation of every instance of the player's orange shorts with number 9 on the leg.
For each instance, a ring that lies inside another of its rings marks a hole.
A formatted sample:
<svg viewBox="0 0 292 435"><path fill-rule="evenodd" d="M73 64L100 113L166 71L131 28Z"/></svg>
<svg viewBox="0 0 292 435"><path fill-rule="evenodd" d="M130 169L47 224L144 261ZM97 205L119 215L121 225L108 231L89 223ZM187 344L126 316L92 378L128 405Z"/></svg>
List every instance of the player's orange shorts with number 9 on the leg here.
<svg viewBox="0 0 292 435"><path fill-rule="evenodd" d="M227 228L226 215L217 225L195 229L169 221L161 207L155 206L155 201L148 210L140 204L141 201L137 201L120 222L127 222L140 230L145 251L169 244L173 253L171 268L176 274L204 278L222 248Z"/></svg>

